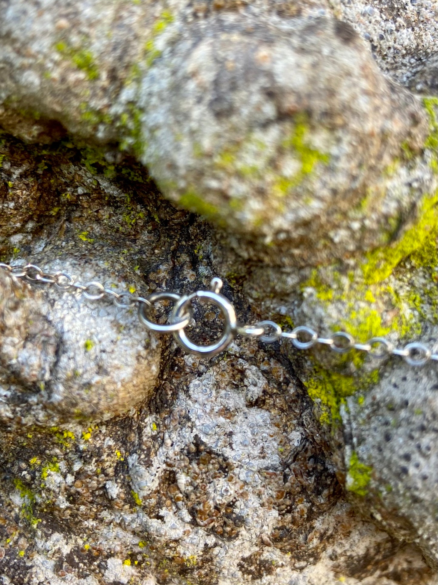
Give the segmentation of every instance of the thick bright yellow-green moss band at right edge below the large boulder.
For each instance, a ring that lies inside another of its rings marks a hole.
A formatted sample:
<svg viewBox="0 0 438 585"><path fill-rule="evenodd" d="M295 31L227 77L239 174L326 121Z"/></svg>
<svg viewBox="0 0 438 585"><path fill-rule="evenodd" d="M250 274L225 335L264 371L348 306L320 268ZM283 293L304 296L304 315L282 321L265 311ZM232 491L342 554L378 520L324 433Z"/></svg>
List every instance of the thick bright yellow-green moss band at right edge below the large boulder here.
<svg viewBox="0 0 438 585"><path fill-rule="evenodd" d="M423 198L419 221L406 230L398 242L384 246L366 254L366 263L362 266L364 280L367 284L380 283L385 280L394 268L406 257L425 245L430 232L437 225L437 199L427 196Z"/></svg>

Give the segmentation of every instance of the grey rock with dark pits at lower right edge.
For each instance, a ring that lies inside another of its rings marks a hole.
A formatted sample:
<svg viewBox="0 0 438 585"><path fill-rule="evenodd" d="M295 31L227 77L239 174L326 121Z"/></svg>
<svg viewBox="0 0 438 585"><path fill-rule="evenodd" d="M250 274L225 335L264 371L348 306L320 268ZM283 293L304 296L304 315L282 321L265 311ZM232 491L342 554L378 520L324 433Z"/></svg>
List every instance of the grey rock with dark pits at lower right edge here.
<svg viewBox="0 0 438 585"><path fill-rule="evenodd" d="M347 489L366 514L398 538L413 539L436 565L436 368L394 364L388 370L363 401L346 398Z"/></svg>

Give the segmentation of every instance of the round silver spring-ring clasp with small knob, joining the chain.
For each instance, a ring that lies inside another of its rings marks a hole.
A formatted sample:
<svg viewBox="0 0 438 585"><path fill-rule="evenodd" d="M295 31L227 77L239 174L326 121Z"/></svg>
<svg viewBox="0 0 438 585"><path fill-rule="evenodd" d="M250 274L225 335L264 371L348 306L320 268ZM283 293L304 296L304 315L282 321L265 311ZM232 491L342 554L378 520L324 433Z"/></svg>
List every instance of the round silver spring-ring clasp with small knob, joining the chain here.
<svg viewBox="0 0 438 585"><path fill-rule="evenodd" d="M176 302L175 307L173 307L171 317L173 322L181 321L182 317L187 314L187 309L190 308L190 303L195 298L210 301L214 305L217 305L217 307L221 309L225 318L225 328L222 337L218 339L217 342L211 343L210 345L197 345L196 343L193 343L187 337L184 329L179 329L179 331L173 332L176 341L184 350L186 350L186 352L194 353L202 357L212 357L217 353L223 352L237 335L236 313L231 302L220 294L222 285L223 282L220 278L213 278L210 283L211 290L196 291L192 292L190 295L184 295L178 302Z"/></svg>

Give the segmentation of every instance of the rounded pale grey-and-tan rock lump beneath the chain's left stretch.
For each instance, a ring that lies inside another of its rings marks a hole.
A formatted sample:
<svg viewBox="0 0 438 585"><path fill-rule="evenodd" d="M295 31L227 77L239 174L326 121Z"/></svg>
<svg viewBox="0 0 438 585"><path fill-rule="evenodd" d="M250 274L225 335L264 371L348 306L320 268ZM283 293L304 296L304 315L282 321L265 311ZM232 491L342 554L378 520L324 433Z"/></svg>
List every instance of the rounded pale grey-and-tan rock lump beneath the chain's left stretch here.
<svg viewBox="0 0 438 585"><path fill-rule="evenodd" d="M90 282L102 280L108 264L102 271L92 261L78 266L64 260L62 269L80 270ZM60 264L43 266L50 271ZM1 376L7 397L2 425L14 426L18 418L20 432L26 432L26 426L55 426L72 417L107 419L150 397L159 344L133 309L117 310L108 302L96 308L80 294L57 290L43 298L13 277L0 278ZM120 335L125 329L127 339Z"/></svg>

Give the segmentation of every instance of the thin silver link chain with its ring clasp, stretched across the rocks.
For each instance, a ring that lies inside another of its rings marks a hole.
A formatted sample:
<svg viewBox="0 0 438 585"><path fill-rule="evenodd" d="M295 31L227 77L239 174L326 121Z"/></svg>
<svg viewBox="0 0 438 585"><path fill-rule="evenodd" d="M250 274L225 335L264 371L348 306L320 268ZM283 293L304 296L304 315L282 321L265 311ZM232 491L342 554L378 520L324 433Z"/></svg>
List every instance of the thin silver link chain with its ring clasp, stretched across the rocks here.
<svg viewBox="0 0 438 585"><path fill-rule="evenodd" d="M157 333L173 333L176 341L186 352L195 353L199 356L211 357L225 350L237 335L259 338L264 343L274 343L277 340L290 339L297 349L310 349L316 343L328 346L333 352L347 353L352 349L366 352L371 357L383 358L386 356L399 356L410 366L424 366L429 360L438 362L438 354L423 343L411 342L402 348L395 347L390 341L383 337L373 337L366 343L356 343L350 333L338 331L330 337L319 337L318 333L307 325L300 325L292 331L283 331L281 326L274 321L259 321L256 325L238 324L235 310L231 302L220 294L223 282L220 278L211 280L211 289L200 290L189 295L179 295L175 292L154 292L147 298L137 297L130 292L115 292L105 288L102 283L92 281L86 284L76 283L74 278L67 272L58 271L54 274L44 272L35 264L25 266L11 266L0 263L0 269L5 270L16 278L25 278L31 283L54 284L62 291L79 291L85 298L98 301L104 297L111 300L116 307L132 308L138 305L138 318L147 329ZM186 335L185 328L192 321L192 301L198 298L200 301L211 302L221 309L225 317L223 335L217 342L210 345L197 345ZM174 307L169 315L168 324L161 325L151 321L150 312L153 305L162 300L173 301Z"/></svg>

